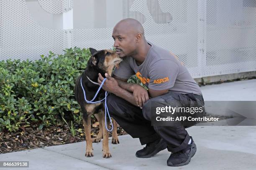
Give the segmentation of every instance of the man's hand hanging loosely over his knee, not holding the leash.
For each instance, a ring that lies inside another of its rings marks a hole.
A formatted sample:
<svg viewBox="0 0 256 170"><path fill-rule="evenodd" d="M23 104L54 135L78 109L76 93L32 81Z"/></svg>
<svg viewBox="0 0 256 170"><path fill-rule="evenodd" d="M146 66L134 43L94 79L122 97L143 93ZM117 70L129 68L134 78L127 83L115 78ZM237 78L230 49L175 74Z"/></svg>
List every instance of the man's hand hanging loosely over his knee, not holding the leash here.
<svg viewBox="0 0 256 170"><path fill-rule="evenodd" d="M143 88L141 85L133 85L133 97L138 107L141 107L149 100L148 90Z"/></svg>

